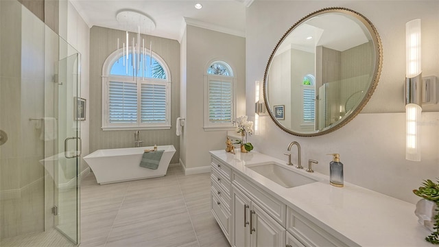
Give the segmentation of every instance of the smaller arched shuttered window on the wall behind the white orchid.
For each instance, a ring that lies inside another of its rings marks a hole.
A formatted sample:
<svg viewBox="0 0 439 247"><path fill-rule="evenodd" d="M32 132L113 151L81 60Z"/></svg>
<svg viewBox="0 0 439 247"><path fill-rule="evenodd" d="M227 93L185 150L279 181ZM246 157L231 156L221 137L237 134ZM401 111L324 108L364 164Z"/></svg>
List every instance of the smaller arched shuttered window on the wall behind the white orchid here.
<svg viewBox="0 0 439 247"><path fill-rule="evenodd" d="M215 60L206 69L204 83L204 130L228 130L235 119L233 69Z"/></svg>

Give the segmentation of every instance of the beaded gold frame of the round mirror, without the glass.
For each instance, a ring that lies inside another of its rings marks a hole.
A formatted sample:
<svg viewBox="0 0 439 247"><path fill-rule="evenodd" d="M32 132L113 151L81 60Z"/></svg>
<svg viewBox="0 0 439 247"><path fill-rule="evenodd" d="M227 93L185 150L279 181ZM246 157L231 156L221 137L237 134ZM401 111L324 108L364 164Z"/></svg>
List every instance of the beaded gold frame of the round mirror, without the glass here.
<svg viewBox="0 0 439 247"><path fill-rule="evenodd" d="M364 24L364 27L368 30L370 36L372 37L373 41L373 48L375 50L375 68L373 70L373 76L372 80L370 82L370 85L366 91L366 93L363 96L363 99L361 99L361 102L357 105L357 108L353 110L352 113L347 115L347 117L343 117L342 121L337 122L335 125L326 128L322 131L316 132L294 132L288 128L285 128L279 121L276 120L276 117L274 117L274 113L272 113L272 110L270 108L269 102L268 102L268 92L267 92L267 83L268 83L268 70L270 69L270 64L272 63L272 60L274 58L274 55L276 54L276 51L278 50L278 47L281 45L283 40L291 34L291 32L298 27L300 24L305 23L305 21L313 18L314 16L318 16L320 14L327 14L327 13L343 13L347 14L348 16L353 16L355 19L360 21ZM272 51L272 54L270 55L270 58L268 60L267 66L265 67L265 73L263 77L263 98L265 102L265 107L267 108L268 114L270 115L272 121L274 121L274 124L281 128L283 131L294 134L299 137L316 137L320 136L322 134L328 134L330 132L333 132L335 130L338 130L339 128L342 128L344 125L346 125L349 121L351 121L355 116L358 115L358 113L366 106L367 102L369 101L370 97L372 97L373 92L375 91L375 88L377 87L379 76L381 75L381 67L382 67L382 61L383 60L383 51L381 47L381 39L379 38L379 34L377 30L375 29L374 25L362 14L359 14L359 12L355 12L354 10L350 10L348 8L339 8L339 7L333 7L333 8L324 8L322 10L318 10L316 12L312 12L311 14L308 14L307 16L300 19L300 21L296 22L292 27L283 34L281 40L278 41L276 44L276 47L274 47L274 50Z"/></svg>

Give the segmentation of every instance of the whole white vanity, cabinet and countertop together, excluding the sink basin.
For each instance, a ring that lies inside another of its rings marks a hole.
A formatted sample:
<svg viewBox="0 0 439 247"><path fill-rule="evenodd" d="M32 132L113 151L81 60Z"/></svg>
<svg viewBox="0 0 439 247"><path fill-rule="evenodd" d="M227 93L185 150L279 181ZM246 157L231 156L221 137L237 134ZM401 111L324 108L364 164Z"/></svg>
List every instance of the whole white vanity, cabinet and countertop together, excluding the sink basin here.
<svg viewBox="0 0 439 247"><path fill-rule="evenodd" d="M230 246L431 246L414 204L350 183L335 188L317 173L317 182L287 188L253 168L285 161L259 152L210 153L211 209Z"/></svg>

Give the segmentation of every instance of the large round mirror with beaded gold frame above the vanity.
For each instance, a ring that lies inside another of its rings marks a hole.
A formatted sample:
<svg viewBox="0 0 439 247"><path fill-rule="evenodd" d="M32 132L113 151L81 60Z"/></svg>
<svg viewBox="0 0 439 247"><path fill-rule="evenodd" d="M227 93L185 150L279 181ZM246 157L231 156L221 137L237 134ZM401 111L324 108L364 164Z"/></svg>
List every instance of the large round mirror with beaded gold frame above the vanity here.
<svg viewBox="0 0 439 247"><path fill-rule="evenodd" d="M326 8L305 16L268 60L263 97L270 117L302 137L341 128L372 96L381 57L377 30L361 14Z"/></svg>

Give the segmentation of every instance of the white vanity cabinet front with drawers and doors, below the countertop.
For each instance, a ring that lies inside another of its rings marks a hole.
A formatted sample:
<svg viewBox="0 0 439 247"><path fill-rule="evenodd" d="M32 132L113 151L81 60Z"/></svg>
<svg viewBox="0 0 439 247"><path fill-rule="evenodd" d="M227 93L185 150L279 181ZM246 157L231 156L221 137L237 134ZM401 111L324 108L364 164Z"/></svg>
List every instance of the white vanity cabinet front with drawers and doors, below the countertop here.
<svg viewBox="0 0 439 247"><path fill-rule="evenodd" d="M357 246L333 237L213 156L211 212L233 247Z"/></svg>

